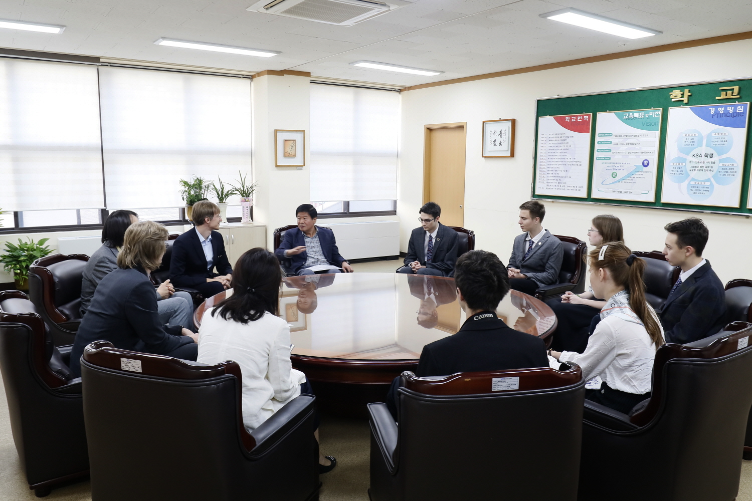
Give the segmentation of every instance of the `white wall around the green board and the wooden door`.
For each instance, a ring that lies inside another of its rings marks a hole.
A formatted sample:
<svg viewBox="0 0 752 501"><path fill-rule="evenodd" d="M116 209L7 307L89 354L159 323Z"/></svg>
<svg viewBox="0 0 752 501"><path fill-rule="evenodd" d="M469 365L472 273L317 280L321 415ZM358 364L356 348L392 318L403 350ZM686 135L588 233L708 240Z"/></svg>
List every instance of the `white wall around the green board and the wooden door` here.
<svg viewBox="0 0 752 501"><path fill-rule="evenodd" d="M752 41L735 41L403 92L398 216L403 222L412 221L423 201L422 183L415 182L423 179L423 125L468 122L465 228L475 231L476 249L495 252L507 262L512 240L520 232L517 207L531 192L535 98L750 75ZM752 95L741 98L750 100ZM482 158L482 122L499 118L517 119L514 158ZM699 216L710 229L704 255L720 279L725 283L752 278L749 217L571 202L546 201L545 205L545 228L585 241L593 216L618 216L626 244L633 250L663 249L667 222ZM411 229L402 225L403 251Z"/></svg>

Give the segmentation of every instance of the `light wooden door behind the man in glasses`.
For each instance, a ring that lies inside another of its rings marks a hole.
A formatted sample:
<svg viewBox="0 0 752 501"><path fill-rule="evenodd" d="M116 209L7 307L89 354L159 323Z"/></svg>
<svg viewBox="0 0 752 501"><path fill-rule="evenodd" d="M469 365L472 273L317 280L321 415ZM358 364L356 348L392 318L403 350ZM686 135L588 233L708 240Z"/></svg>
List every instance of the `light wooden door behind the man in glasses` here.
<svg viewBox="0 0 752 501"><path fill-rule="evenodd" d="M465 123L426 125L423 203L441 207L447 226L465 223Z"/></svg>

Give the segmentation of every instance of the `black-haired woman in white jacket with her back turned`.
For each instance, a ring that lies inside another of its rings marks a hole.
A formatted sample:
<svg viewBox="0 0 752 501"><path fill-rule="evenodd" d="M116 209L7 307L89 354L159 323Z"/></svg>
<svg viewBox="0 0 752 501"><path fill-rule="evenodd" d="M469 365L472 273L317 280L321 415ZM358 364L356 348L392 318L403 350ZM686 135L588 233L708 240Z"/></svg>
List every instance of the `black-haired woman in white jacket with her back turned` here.
<svg viewBox="0 0 752 501"><path fill-rule="evenodd" d="M266 249L245 252L233 267L232 295L208 309L199 328L204 364L238 363L243 375L243 424L252 431L301 393L311 394L305 374L290 361L290 326L277 316L280 264ZM314 433L318 440L318 427ZM319 453L320 472L337 460Z"/></svg>

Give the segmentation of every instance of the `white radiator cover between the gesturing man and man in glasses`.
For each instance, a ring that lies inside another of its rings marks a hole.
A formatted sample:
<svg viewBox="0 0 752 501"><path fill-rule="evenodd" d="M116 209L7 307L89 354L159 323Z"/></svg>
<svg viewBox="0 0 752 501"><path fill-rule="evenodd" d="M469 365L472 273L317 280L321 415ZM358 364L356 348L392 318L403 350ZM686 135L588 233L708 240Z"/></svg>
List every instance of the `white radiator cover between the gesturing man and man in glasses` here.
<svg viewBox="0 0 752 501"><path fill-rule="evenodd" d="M321 226L332 228L339 253L345 259L380 258L399 255L399 221L341 222Z"/></svg>

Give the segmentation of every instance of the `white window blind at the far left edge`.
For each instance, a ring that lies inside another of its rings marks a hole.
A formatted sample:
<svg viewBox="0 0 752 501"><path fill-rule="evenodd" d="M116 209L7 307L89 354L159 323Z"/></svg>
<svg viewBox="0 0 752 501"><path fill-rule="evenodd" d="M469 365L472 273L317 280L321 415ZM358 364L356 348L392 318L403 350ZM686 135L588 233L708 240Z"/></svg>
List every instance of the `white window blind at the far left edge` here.
<svg viewBox="0 0 752 501"><path fill-rule="evenodd" d="M0 59L0 208L105 207L96 72Z"/></svg>

